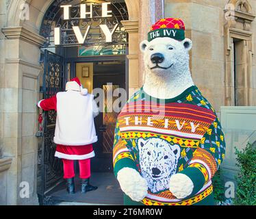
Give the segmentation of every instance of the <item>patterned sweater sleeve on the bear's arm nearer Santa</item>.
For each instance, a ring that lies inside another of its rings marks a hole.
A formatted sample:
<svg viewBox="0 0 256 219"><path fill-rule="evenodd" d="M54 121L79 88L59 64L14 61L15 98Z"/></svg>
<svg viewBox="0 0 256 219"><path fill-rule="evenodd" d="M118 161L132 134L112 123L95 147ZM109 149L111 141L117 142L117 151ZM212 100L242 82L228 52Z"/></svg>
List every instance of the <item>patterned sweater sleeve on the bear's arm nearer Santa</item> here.
<svg viewBox="0 0 256 219"><path fill-rule="evenodd" d="M114 175L117 177L118 171L123 168L133 168L137 170L131 151L127 148L127 142L120 135L118 120L116 122L114 148L113 148Z"/></svg>

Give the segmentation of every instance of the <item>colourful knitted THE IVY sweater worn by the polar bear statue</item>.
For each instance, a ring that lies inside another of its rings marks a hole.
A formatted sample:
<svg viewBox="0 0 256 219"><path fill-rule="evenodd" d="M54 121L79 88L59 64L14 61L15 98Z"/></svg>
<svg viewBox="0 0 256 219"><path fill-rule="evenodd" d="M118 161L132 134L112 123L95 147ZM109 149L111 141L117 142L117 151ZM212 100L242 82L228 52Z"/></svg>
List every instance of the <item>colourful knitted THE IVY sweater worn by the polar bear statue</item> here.
<svg viewBox="0 0 256 219"><path fill-rule="evenodd" d="M213 205L212 177L225 157L220 121L196 86L174 99L155 99L141 88L118 116L114 139L114 174L128 167L146 179L141 203L125 196L125 205ZM177 172L192 179L184 200L169 190Z"/></svg>

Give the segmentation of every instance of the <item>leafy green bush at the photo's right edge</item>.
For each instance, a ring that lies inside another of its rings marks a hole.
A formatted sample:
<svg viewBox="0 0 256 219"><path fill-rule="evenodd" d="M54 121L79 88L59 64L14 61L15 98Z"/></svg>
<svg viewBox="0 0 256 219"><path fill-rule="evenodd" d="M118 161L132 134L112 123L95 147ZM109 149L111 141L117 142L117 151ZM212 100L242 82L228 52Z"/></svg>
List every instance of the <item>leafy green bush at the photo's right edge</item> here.
<svg viewBox="0 0 256 219"><path fill-rule="evenodd" d="M235 149L240 173L236 177L235 205L256 205L256 149L247 144L242 151Z"/></svg>

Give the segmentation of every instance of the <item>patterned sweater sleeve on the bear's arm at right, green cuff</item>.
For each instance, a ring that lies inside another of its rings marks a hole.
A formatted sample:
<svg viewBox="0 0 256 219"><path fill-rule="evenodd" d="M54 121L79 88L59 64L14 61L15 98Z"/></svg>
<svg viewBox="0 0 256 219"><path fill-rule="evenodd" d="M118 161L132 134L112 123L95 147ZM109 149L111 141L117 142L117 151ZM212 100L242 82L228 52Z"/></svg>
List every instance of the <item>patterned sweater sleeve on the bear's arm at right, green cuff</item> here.
<svg viewBox="0 0 256 219"><path fill-rule="evenodd" d="M224 158L225 138L218 117L216 117L216 120L206 130L199 147L194 151L188 167L179 172L190 177L194 183L192 195L212 180Z"/></svg>

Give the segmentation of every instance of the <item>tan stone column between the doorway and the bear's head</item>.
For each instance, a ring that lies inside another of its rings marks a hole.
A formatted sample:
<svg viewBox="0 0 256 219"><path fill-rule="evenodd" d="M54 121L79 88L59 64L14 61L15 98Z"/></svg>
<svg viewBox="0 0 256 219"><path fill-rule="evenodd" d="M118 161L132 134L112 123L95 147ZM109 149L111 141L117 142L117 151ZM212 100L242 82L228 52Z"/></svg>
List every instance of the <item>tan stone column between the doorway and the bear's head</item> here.
<svg viewBox="0 0 256 219"><path fill-rule="evenodd" d="M162 18L163 0L125 1L129 11L129 21L122 21L129 34L129 96L143 83L144 64L139 44L146 39L152 23ZM161 8L161 10L160 10Z"/></svg>

